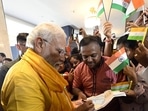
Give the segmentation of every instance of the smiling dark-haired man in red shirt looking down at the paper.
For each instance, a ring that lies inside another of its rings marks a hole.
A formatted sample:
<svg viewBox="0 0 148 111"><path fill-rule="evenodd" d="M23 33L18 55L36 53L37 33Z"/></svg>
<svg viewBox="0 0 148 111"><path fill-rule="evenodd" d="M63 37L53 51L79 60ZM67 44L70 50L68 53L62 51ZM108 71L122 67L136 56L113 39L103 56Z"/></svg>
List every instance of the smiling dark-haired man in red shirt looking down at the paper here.
<svg viewBox="0 0 148 111"><path fill-rule="evenodd" d="M125 80L123 74L114 72L105 63L108 57L102 56L102 41L96 36L84 37L80 42L83 62L74 71L73 93L80 99L86 99L111 89L111 84ZM115 98L99 111L119 111Z"/></svg>

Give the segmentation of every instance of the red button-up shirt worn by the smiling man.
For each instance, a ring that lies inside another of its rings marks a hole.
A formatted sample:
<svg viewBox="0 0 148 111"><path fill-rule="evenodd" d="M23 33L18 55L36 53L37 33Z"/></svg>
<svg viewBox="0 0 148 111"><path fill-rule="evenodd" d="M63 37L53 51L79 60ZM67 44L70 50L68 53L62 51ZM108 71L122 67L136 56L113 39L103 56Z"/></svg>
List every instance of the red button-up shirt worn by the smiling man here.
<svg viewBox="0 0 148 111"><path fill-rule="evenodd" d="M125 81L123 73L115 74L104 62L98 69L92 71L84 62L80 63L74 70L73 88L79 88L87 97L99 95L111 89L111 84ZM120 111L118 99L113 99L105 108L99 111Z"/></svg>

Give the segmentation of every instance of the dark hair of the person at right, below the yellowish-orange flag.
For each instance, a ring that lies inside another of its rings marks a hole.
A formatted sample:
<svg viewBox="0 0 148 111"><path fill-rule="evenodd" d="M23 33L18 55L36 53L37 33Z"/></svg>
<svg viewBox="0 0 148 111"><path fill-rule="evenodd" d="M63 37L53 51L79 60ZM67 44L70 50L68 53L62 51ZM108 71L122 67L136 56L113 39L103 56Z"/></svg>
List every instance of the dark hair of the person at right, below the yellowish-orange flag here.
<svg viewBox="0 0 148 111"><path fill-rule="evenodd" d="M117 41L117 45L123 44L130 49L136 49L138 47L138 42L136 40L128 40L128 35L129 34L121 36Z"/></svg>

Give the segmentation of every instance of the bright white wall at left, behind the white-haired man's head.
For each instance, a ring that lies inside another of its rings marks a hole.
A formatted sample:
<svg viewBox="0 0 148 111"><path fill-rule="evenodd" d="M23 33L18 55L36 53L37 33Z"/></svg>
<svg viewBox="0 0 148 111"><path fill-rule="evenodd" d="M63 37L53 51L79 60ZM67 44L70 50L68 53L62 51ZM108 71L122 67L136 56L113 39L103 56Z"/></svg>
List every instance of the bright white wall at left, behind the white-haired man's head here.
<svg viewBox="0 0 148 111"><path fill-rule="evenodd" d="M18 35L18 33L21 33L21 32L30 33L35 25L8 15L5 15L5 18L6 18L6 26L7 26L7 32L8 32L8 40L9 40L11 53L12 53L11 58L16 59L19 54L17 48L15 47L16 36Z"/></svg>

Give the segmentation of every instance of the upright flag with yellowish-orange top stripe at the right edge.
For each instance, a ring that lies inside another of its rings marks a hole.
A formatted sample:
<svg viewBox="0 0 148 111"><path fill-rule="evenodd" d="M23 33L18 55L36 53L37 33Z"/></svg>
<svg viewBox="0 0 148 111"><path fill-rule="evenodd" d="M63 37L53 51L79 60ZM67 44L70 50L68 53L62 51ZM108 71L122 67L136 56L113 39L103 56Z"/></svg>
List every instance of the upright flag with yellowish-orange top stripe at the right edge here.
<svg viewBox="0 0 148 111"><path fill-rule="evenodd" d="M148 31L148 27L131 28L127 39L138 40L143 42L147 34L147 31Z"/></svg>

